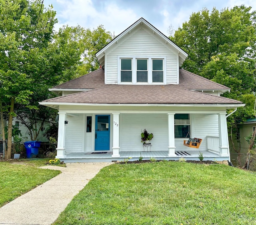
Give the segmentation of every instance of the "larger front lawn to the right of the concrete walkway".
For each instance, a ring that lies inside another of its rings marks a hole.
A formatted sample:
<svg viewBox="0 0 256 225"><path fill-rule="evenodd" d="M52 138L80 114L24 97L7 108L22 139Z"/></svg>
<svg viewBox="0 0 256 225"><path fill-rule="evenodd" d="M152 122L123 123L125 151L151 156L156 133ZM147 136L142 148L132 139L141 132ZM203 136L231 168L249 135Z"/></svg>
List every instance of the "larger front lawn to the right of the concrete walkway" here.
<svg viewBox="0 0 256 225"><path fill-rule="evenodd" d="M103 168L54 225L255 224L256 174L212 164Z"/></svg>

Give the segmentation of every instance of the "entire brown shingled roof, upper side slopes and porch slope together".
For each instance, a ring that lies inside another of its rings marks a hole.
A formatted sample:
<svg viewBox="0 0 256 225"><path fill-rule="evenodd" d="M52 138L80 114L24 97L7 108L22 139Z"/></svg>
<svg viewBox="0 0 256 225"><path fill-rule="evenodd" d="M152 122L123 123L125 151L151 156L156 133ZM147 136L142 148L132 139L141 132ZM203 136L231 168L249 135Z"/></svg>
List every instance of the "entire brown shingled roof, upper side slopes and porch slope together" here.
<svg viewBox="0 0 256 225"><path fill-rule="evenodd" d="M88 104L241 104L242 102L192 90L229 90L194 73L180 69L179 85L105 85L104 70L98 69L56 89L92 89L56 97L44 103ZM54 89L53 88L53 89Z"/></svg>

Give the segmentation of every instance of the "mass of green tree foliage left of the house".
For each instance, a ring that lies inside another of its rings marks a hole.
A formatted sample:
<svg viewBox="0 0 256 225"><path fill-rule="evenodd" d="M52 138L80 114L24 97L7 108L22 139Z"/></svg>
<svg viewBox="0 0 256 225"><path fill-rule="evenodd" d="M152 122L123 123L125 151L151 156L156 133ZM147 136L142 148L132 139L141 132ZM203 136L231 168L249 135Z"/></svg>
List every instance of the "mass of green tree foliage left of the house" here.
<svg viewBox="0 0 256 225"><path fill-rule="evenodd" d="M0 0L0 110L1 123L8 116L7 158L13 116L36 140L44 121L56 113L38 106L53 97L47 89L98 69L95 53L112 39L103 26L92 31L63 26L54 32L55 15L40 0Z"/></svg>

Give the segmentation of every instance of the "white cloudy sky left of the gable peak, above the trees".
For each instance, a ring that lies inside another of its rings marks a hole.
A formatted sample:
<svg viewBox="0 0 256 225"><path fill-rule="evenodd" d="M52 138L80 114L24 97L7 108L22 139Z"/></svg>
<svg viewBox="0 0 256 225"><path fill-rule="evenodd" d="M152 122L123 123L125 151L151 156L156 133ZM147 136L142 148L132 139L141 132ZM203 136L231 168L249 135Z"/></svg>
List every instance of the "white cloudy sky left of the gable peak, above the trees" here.
<svg viewBox="0 0 256 225"><path fill-rule="evenodd" d="M131 9L120 9L113 3L106 4L105 7L99 6L98 9L92 4L92 0L58 0L58 4L61 7L57 10L59 23L55 26L56 30L66 24L79 24L90 29L102 24L107 31L117 36L140 18Z"/></svg>

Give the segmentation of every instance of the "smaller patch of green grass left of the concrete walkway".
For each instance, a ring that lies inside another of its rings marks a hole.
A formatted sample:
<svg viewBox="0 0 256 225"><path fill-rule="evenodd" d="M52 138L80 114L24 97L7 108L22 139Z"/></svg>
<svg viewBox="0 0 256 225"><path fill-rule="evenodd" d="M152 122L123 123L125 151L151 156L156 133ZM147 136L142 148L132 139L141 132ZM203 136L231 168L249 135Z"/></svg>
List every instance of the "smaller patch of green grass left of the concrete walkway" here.
<svg viewBox="0 0 256 225"><path fill-rule="evenodd" d="M60 174L57 170L38 168L48 161L30 159L0 162L0 207Z"/></svg>

